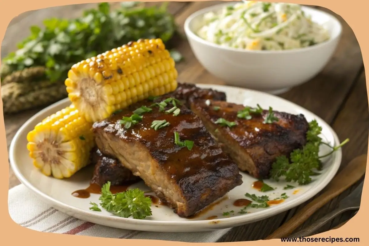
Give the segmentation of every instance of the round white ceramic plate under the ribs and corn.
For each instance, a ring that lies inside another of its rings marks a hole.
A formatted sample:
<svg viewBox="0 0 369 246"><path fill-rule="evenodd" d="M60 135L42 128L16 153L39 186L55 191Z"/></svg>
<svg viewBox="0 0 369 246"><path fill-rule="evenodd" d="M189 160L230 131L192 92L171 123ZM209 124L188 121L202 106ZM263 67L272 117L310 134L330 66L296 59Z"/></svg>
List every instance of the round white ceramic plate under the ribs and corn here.
<svg viewBox="0 0 369 246"><path fill-rule="evenodd" d="M224 91L227 93L228 101L256 106L260 104L263 108L272 106L274 110L285 111L292 114L304 114L308 121L317 119L318 124L323 127L323 141L330 145L337 145L339 139L331 127L321 118L304 108L286 101L282 98L265 94L258 91L245 90L237 87L215 86L215 85L198 85L203 88L211 87L212 89ZM242 173L243 184L231 190L225 197L221 198L221 202L212 206L211 209L202 213L199 217L193 219L180 218L172 209L164 205L158 207L152 206L153 215L146 219L120 218L109 214L108 212L95 212L89 210L89 202L99 203L99 195L92 194L91 197L83 199L73 197L73 191L85 189L89 186L92 177L92 167L87 167L70 179L57 180L52 177L46 177L34 168L31 158L28 156L27 133L42 119L52 113L61 110L70 104L68 99L59 101L29 119L15 135L9 150L9 159L11 167L18 179L32 192L37 194L45 202L49 203L56 209L84 221L93 222L95 224L111 226L115 228L154 231L154 232L196 232L211 231L215 229L230 228L234 226L244 225L255 222L270 216L279 214L297 205L307 201L319 191L321 191L334 177L341 163L342 153L340 150L324 160L324 169L319 176L315 176L312 183L306 186L298 186L292 184L296 188L283 190L287 183L266 180L276 189L266 193L261 193L252 188L252 183L256 181L248 174ZM321 154L326 153L328 149L321 149ZM144 184L138 183L132 187L139 187L148 190ZM242 207L233 206L233 202L240 198L246 198L244 194L268 195L270 199L279 197L282 193L287 193L289 198L277 205L271 205L268 208L248 208L248 214L238 214ZM223 216L223 212L234 211L229 217ZM208 219L211 216L217 216L214 219Z"/></svg>

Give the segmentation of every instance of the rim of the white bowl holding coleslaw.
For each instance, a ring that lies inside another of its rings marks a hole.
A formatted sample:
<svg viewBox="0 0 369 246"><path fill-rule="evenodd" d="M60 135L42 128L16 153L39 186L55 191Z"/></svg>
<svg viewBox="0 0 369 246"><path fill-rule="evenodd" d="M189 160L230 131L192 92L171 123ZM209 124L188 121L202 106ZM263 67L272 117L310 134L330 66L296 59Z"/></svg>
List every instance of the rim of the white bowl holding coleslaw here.
<svg viewBox="0 0 369 246"><path fill-rule="evenodd" d="M220 4L215 4L206 8L201 8L200 10L195 11L194 13L190 14L186 20L184 21L184 25L183 25L183 29L184 32L187 35L187 38L191 38L194 39L197 42L202 43L203 45L207 45L207 46L211 46L213 48L217 48L217 49L223 49L225 51L233 51L233 52L240 52L240 53L259 53L259 54L281 54L281 53L299 53L299 52L308 52L311 51L313 49L318 49L322 46L331 44L332 42L337 41L338 39L341 38L342 35L342 24L341 22L332 14L327 13L325 11L316 9L316 8L312 8L312 7L307 7L307 6L301 6L301 8L303 9L307 9L309 11L312 12L319 12L323 15L326 15L328 18L330 18L331 20L333 20L338 27L338 34L335 35L334 37L331 37L330 39L328 39L325 42L319 43L319 44L315 44L312 46L308 46L308 47L303 47L303 48L297 48L297 49L287 49L287 50L263 50L263 51L258 51L258 50L247 50L247 49L238 49L238 48L233 48L233 47L228 47L228 46L221 46L218 44L214 44L210 41L207 41L203 38L200 38L198 35L195 34L195 32L190 28L190 24L191 22L194 20L194 18L198 17L199 15L203 15L209 11L214 11L216 9L221 8L222 6L227 6L227 5L234 5L239 3L239 1L229 1L227 3L220 3ZM300 4L301 5L301 4Z"/></svg>

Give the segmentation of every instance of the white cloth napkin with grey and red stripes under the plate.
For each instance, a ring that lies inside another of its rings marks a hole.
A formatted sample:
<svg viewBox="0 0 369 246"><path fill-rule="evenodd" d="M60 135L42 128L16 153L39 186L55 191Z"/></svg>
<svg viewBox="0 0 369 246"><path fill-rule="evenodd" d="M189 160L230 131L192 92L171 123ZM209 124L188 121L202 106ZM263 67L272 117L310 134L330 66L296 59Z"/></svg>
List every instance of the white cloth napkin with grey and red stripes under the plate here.
<svg viewBox="0 0 369 246"><path fill-rule="evenodd" d="M41 231L102 238L156 239L178 242L216 242L230 229L211 232L142 232L96 225L70 217L40 201L20 184L9 190L8 208L13 221L23 227Z"/></svg>

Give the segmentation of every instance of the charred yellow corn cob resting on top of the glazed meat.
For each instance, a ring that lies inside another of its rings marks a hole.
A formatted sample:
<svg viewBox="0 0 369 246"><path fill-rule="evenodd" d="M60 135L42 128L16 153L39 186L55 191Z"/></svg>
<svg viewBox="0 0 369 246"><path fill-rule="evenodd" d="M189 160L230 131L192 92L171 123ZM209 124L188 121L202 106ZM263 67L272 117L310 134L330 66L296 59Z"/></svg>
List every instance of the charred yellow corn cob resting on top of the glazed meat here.
<svg viewBox="0 0 369 246"><path fill-rule="evenodd" d="M80 114L94 122L175 90L177 75L161 39L140 39L73 65L65 85Z"/></svg>

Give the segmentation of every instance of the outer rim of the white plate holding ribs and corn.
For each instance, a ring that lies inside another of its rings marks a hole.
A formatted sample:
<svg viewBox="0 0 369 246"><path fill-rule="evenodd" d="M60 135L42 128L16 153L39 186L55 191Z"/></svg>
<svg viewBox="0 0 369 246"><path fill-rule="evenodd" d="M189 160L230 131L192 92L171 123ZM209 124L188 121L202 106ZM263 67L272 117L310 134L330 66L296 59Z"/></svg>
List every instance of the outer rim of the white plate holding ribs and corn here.
<svg viewBox="0 0 369 246"><path fill-rule="evenodd" d="M229 89L233 89L233 90L240 90L243 91L244 93L256 93L256 94L260 94L262 96L268 96L268 97L273 97L277 100L282 100L284 103L289 103L291 104L294 108L301 110L301 111L306 111L309 114L311 114L315 119L321 121L324 123L325 127L329 130L329 132L332 134L332 137L334 139L335 144L339 142L339 138L336 134L336 132L331 128L331 126L325 122L322 118L318 117L318 115L314 114L313 112L301 107L300 105L297 105L289 100L286 100L282 97L276 96L276 95L272 95L272 94L268 94L262 91L256 91L256 90L251 90L251 89L245 89L245 88L241 88L241 87L236 87L236 86L227 86L227 85L219 85L219 84L196 84L196 86L201 87L201 88L211 88L211 89L218 89L221 90L221 88L229 88ZM64 98L56 103L53 103L51 105L49 105L48 107L45 107L44 109L40 110L38 113L34 114L31 118L29 118L17 131L17 133L14 135L14 138L11 141L10 144L10 148L8 151L8 157L9 157L9 163L11 168L14 171L15 176L20 180L20 182L22 184L24 184L24 186L26 186L28 189L30 189L32 192L34 192L35 194L37 194L39 197L42 198L42 200L44 200L46 203L48 203L49 205L51 205L52 207L57 207L60 209L63 209L65 211L73 211L76 214L80 214L82 216L84 216L85 218L91 218L94 219L94 221L96 220L103 220L103 221L111 221L111 222L115 222L115 223L122 223L122 224L126 224L126 225L135 225L135 226L164 226L164 227L168 227L168 226L175 226L175 228L183 228L186 226L197 226L197 228L199 228L199 226L203 226L202 228L204 228L206 231L211 231L211 230L217 230L217 229L224 229L224 228L232 228L234 226L238 226L238 225L244 225L244 224L249 224L252 222L256 222L256 221L260 221L262 219L266 219L266 218L270 218L273 215L277 215L280 214L282 212L285 212L291 208L297 207L300 204L302 204L303 202L306 202L307 200L309 200L310 198L314 197L315 195L317 195L321 190L323 190L329 183L330 181L335 177L335 175L337 174L337 171L339 169L339 167L341 166L341 162L342 162L342 150L339 149L338 151L334 152L333 155L331 156L331 158L335 159L333 161L332 164L332 170L329 172L328 176L322 180L322 182L320 182L316 187L314 187L313 189L307 190L305 193L303 193L302 195L300 195L299 197L296 197L293 200L290 200L288 202L285 202L283 206L275 206L272 208L268 208L259 212L253 212L252 214L245 214L245 215L238 215L238 216L234 216L234 217L230 217L230 218L219 218L219 219L212 219L212 220L199 220L199 221L151 221L151 220L141 220L141 219L132 219L132 218L121 218L118 216L113 216L113 215L104 215L104 214L97 214L97 213L93 213L91 211L87 211L85 209L81 209L81 208L77 208L74 207L72 205L66 204L64 202L61 202L55 198L50 197L49 195L45 194L44 192L42 192L41 190L39 190L37 187L33 186L33 184L28 181L23 174L21 173L20 168L18 168L18 164L16 164L15 162L15 145L16 143L19 141L18 139L20 139L20 135L24 132L24 129L29 127L30 123L32 121L35 120L35 118L41 116L42 114L44 114L45 112L52 110L53 108L56 108L60 105L66 104L67 102L70 102L69 98ZM77 218L77 216L74 216ZM85 219L88 221L88 219ZM91 221L90 221L91 222ZM99 224L94 222L95 224ZM105 223L104 223L105 224ZM107 225L108 226L108 225ZM111 226L111 227L115 227L115 226ZM117 228L117 227L115 227ZM154 230L152 231L158 231L155 230L156 228L153 228ZM194 227L194 230L190 230L192 232L198 232L198 231L204 231L204 229L202 230L196 230L196 227ZM137 230L137 229L134 229ZM151 230L145 230L145 231L151 231ZM162 232L162 230L159 230ZM188 230L181 230L182 232L190 232ZM166 231L168 232L168 231ZM179 231L178 231L179 232Z"/></svg>

